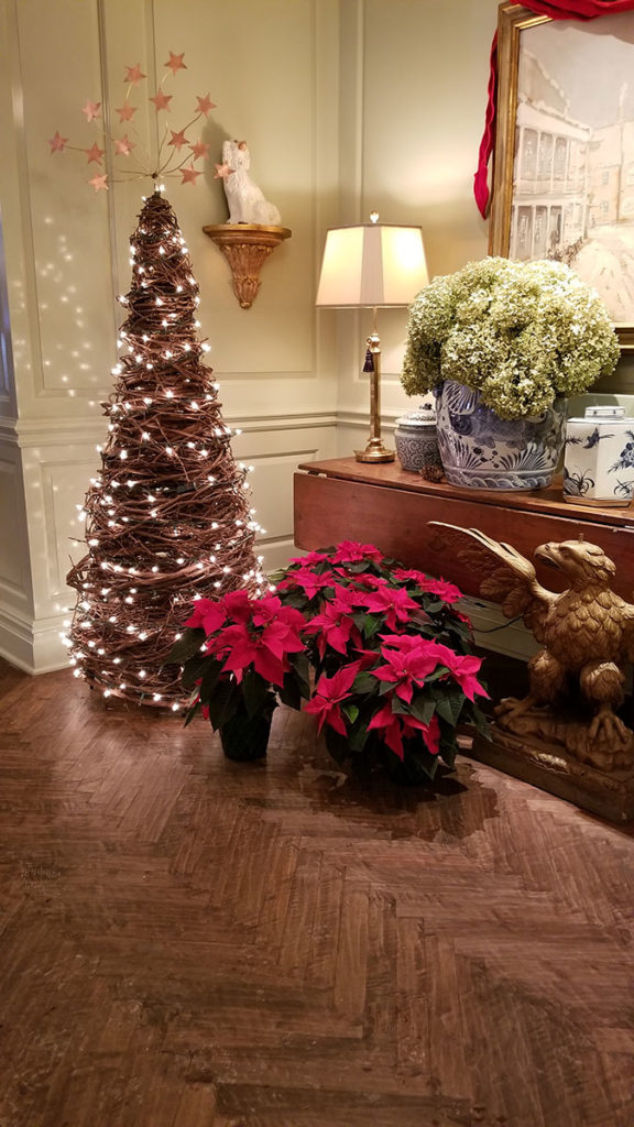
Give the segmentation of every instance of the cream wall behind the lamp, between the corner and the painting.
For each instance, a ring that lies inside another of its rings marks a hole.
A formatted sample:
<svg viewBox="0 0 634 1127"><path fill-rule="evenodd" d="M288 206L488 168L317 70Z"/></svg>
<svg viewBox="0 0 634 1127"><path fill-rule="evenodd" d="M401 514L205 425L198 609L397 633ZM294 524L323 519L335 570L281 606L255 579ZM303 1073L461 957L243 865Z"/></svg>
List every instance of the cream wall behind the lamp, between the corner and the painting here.
<svg viewBox="0 0 634 1127"><path fill-rule="evenodd" d="M432 277L487 254L488 224L474 202L473 176L497 7L497 0L342 5L345 221L367 221L376 208L387 223L420 224ZM367 432L368 390L360 370L369 319L329 316L340 332L338 449L347 454ZM388 434L394 419L414 406L399 382L406 326L405 310L379 312ZM624 358L600 390L623 394L633 388L634 357Z"/></svg>

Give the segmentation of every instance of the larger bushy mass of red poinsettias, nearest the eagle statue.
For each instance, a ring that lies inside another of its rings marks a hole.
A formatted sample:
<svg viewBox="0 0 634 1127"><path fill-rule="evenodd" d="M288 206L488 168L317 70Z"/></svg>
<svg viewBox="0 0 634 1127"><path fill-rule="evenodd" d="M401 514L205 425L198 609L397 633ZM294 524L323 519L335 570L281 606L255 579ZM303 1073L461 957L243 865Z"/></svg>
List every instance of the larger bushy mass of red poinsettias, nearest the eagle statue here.
<svg viewBox="0 0 634 1127"><path fill-rule="evenodd" d="M275 579L307 620L316 678L305 710L338 762L362 757L400 778L433 778L440 758L454 764L458 724L485 729L482 659L454 584L351 541L292 560Z"/></svg>

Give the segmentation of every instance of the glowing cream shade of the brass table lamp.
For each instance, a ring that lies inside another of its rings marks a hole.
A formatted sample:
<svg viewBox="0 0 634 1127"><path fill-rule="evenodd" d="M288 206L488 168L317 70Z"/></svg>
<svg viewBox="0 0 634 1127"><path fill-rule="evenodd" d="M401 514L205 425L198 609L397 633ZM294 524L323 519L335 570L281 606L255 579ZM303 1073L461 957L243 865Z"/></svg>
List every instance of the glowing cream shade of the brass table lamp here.
<svg viewBox="0 0 634 1127"><path fill-rule="evenodd" d="M429 282L420 227L362 223L326 236L317 305L408 305Z"/></svg>

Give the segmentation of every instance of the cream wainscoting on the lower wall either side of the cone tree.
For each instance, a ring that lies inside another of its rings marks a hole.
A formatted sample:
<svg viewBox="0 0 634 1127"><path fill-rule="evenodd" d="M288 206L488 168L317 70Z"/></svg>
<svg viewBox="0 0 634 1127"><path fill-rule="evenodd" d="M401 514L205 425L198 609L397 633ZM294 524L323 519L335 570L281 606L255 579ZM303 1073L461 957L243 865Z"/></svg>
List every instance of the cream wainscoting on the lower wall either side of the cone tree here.
<svg viewBox="0 0 634 1127"><path fill-rule="evenodd" d="M335 456L335 416L297 415L270 419L226 418L240 428L232 450L238 461L254 467L250 479L253 505L266 530L258 551L265 568L273 570L293 553L292 478L299 462ZM103 423L95 419L83 427L77 424L59 428L54 420L20 428L35 614L29 612L19 570L26 549L2 554L0 549L0 654L30 673L62 668L67 664L60 633L76 600L65 584L71 559L86 551L81 542L83 525L77 506L81 504L89 480L99 467L96 444L103 441ZM17 446L12 453L19 455ZM6 469L8 468L8 469ZM15 476L19 465L5 462L0 454L0 518L9 536L5 544L19 542L20 520L11 508L19 499ZM3 482L8 485L3 488ZM7 548L3 549L5 552Z"/></svg>

